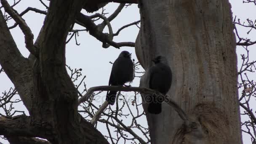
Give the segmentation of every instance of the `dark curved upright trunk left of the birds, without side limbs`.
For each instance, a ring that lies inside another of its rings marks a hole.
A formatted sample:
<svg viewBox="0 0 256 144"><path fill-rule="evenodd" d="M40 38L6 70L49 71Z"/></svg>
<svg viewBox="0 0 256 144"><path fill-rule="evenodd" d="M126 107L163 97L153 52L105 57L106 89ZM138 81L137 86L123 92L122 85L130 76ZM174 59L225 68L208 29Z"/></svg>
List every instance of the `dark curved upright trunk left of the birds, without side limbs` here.
<svg viewBox="0 0 256 144"><path fill-rule="evenodd" d="M88 0L51 0L36 45L35 118L50 121L52 143L106 144L104 136L77 112L77 89L66 69L65 46L70 27ZM66 13L66 14L64 14ZM39 113L39 114L38 114ZM38 116L40 115L40 116Z"/></svg>

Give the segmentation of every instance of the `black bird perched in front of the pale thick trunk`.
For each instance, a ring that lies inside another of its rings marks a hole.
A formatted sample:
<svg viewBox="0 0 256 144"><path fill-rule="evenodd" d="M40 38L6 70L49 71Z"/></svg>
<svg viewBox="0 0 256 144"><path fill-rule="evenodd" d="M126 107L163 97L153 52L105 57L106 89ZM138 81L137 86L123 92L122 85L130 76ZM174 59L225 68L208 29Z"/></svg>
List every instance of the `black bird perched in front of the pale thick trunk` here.
<svg viewBox="0 0 256 144"><path fill-rule="evenodd" d="M152 61L155 65L149 69L149 88L165 95L171 87L171 68L168 66L167 59L163 56L157 56ZM149 96L148 112L160 114L162 112L162 102L163 99L156 95Z"/></svg>

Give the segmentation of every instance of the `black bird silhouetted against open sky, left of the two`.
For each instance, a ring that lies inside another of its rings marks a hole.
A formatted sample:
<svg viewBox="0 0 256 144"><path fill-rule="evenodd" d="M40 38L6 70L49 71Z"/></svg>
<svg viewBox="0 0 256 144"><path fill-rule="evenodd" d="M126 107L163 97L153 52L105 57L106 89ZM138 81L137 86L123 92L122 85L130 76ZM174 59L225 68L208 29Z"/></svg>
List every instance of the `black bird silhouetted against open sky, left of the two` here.
<svg viewBox="0 0 256 144"><path fill-rule="evenodd" d="M127 82L132 82L133 79L134 70L131 53L122 51L112 66L109 85L124 85ZM116 95L117 91L107 91L106 101L111 105L115 104Z"/></svg>

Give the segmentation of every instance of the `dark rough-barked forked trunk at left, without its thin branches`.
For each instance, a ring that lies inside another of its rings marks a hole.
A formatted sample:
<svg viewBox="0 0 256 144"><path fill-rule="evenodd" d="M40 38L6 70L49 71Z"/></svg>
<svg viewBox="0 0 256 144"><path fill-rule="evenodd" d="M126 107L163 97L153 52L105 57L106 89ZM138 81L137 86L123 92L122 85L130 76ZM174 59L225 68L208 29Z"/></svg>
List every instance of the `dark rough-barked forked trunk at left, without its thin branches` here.
<svg viewBox="0 0 256 144"><path fill-rule="evenodd" d="M4 0L1 0L4 1ZM0 64L17 88L30 116L0 117L0 133L15 142L107 144L104 136L77 112L77 89L65 68L65 42L86 0L51 1L36 40L37 57L19 52L0 12ZM35 61L34 61L35 59ZM22 137L24 136L24 137Z"/></svg>

